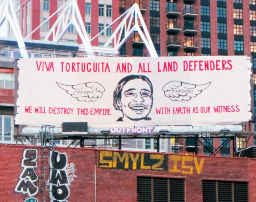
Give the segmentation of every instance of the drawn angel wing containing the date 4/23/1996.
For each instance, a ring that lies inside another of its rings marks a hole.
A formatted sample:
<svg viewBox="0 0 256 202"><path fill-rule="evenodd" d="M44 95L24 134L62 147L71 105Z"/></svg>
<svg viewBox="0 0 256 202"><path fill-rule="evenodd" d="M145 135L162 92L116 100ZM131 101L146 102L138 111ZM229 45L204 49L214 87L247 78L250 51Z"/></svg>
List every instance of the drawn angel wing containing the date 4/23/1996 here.
<svg viewBox="0 0 256 202"><path fill-rule="evenodd" d="M98 98L101 98L103 92L105 91L104 87L97 82L88 82L85 84L78 85L64 85L56 82L57 85L64 89L68 94L73 98L76 98L78 101L94 102Z"/></svg>

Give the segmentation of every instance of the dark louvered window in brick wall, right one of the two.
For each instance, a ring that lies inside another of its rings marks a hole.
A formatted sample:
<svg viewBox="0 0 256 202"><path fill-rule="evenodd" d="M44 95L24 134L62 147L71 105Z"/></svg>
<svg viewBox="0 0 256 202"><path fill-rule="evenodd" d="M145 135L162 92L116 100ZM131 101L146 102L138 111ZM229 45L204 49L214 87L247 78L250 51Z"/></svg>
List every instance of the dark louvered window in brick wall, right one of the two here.
<svg viewBox="0 0 256 202"><path fill-rule="evenodd" d="M248 182L203 180L204 202L248 202Z"/></svg>

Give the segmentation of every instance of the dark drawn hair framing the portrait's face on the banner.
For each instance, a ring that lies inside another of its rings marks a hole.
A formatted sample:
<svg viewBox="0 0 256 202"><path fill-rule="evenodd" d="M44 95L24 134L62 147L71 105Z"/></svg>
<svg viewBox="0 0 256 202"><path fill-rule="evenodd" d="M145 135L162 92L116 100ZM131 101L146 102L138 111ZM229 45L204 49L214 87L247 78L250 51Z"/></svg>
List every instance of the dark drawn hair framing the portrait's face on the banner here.
<svg viewBox="0 0 256 202"><path fill-rule="evenodd" d="M134 79L141 79L142 81L145 81L148 83L148 85L150 86L150 91L151 91L151 100L153 103L153 86L151 81L148 79L148 77L143 76L143 75L129 75L126 76L124 78L122 78L118 84L116 85L116 89L114 90L113 93L113 98L114 98L114 103L113 106L115 107L116 110L121 110L122 107L118 106L118 99L122 98L122 89L125 86L125 84L128 81L134 80ZM122 110L121 110L122 111Z"/></svg>

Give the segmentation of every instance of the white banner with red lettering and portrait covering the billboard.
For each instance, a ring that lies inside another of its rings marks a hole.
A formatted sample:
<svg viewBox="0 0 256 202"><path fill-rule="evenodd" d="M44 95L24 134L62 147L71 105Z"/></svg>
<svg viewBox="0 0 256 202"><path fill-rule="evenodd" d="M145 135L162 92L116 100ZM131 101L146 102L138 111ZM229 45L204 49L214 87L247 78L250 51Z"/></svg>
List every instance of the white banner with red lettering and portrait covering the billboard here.
<svg viewBox="0 0 256 202"><path fill-rule="evenodd" d="M247 56L21 58L15 124L88 127L249 120Z"/></svg>

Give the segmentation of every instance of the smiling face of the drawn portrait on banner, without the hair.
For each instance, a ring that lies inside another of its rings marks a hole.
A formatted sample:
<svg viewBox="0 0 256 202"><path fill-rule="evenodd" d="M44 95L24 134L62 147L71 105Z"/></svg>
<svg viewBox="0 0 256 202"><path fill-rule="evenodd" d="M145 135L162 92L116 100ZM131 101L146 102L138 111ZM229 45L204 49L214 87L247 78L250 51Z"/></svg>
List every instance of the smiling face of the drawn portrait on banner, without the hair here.
<svg viewBox="0 0 256 202"><path fill-rule="evenodd" d="M142 79L128 81L123 86L118 105L122 107L122 112L127 118L133 121L144 119L152 108L149 84Z"/></svg>

